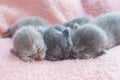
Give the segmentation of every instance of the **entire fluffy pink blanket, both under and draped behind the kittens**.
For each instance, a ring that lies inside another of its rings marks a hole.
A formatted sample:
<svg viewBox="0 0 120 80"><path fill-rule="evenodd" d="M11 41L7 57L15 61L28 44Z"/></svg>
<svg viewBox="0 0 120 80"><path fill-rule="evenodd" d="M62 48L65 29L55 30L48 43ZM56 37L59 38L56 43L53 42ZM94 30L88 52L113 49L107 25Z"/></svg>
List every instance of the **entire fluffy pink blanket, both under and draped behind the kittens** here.
<svg viewBox="0 0 120 80"><path fill-rule="evenodd" d="M120 11L119 0L0 0L0 35L17 19L42 16L52 24ZM120 80L120 46L96 59L23 62L12 39L0 38L0 80Z"/></svg>

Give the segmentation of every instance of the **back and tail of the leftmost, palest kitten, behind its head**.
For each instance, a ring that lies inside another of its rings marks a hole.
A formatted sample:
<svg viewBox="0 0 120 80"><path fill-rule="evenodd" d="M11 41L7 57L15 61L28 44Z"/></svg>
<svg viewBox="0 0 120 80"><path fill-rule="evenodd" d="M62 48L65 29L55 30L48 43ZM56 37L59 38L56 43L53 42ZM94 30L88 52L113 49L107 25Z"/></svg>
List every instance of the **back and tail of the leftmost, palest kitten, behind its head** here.
<svg viewBox="0 0 120 80"><path fill-rule="evenodd" d="M46 26L49 26L49 23L45 19L35 16L21 18L17 20L12 26L10 26L2 37L12 37L18 29L22 28L23 26L27 27L29 25L33 25L33 27L36 28L39 26L45 28Z"/></svg>

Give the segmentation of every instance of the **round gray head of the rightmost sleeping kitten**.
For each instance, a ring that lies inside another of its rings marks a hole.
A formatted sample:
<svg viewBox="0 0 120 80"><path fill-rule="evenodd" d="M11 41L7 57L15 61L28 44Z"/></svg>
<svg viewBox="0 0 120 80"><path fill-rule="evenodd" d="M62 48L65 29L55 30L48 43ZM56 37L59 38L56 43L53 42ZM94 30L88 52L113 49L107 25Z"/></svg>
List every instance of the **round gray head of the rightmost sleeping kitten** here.
<svg viewBox="0 0 120 80"><path fill-rule="evenodd" d="M74 26L72 53L75 58L91 58L103 50L107 44L107 36L101 28L92 24Z"/></svg>

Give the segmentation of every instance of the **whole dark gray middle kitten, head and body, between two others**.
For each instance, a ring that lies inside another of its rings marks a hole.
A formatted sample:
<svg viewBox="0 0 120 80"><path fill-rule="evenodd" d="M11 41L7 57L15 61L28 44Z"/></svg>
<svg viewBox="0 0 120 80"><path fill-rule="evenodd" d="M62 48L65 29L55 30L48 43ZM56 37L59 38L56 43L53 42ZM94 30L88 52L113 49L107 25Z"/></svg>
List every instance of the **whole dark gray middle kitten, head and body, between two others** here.
<svg viewBox="0 0 120 80"><path fill-rule="evenodd" d="M70 54L71 48L73 46L71 40L71 36L74 31L73 25L75 23L83 25L85 23L89 23L91 19L92 18L88 16L81 17L71 20L62 25L52 26L52 28L47 29L43 36L46 46L48 48L46 52L46 59L56 61L73 58ZM64 31L68 33L64 33Z"/></svg>

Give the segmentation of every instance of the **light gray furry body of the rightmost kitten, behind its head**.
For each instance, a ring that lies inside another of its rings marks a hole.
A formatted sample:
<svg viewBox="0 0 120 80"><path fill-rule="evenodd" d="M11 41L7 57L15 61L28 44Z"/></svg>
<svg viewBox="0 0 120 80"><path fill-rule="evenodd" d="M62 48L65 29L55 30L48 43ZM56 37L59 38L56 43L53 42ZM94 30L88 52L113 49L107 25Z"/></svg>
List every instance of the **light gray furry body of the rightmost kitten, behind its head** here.
<svg viewBox="0 0 120 80"><path fill-rule="evenodd" d="M107 13L100 15L93 24L103 29L109 40L107 49L120 44L120 13Z"/></svg>

